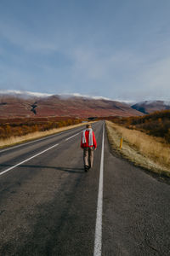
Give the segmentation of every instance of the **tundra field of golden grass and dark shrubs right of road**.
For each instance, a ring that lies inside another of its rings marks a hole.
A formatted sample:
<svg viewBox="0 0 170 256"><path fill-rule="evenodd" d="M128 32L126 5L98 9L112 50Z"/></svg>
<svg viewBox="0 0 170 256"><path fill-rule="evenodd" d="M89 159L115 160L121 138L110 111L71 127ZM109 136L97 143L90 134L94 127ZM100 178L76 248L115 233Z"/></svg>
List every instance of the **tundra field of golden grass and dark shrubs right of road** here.
<svg viewBox="0 0 170 256"><path fill-rule="evenodd" d="M112 150L137 166L170 177L170 111L109 119L106 128Z"/></svg>

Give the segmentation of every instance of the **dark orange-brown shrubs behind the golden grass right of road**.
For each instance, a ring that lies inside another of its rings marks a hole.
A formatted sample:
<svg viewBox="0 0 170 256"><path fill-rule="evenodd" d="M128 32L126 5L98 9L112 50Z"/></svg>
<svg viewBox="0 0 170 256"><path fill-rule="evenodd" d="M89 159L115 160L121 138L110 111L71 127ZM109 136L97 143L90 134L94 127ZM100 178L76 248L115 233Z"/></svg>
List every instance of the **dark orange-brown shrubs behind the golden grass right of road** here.
<svg viewBox="0 0 170 256"><path fill-rule="evenodd" d="M129 129L144 131L148 135L161 137L166 143L170 143L170 110L157 111L144 116L109 117L107 119Z"/></svg>

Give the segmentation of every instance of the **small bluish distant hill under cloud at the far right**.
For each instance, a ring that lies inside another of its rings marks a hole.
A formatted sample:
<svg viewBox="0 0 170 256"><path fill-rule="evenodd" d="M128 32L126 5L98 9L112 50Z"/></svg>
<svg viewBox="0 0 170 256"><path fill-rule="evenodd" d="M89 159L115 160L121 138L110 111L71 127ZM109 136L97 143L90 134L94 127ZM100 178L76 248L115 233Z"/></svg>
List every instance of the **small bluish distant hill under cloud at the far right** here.
<svg viewBox="0 0 170 256"><path fill-rule="evenodd" d="M139 102L131 106L142 113L153 113L155 111L168 110L170 109L170 102L164 101L144 101Z"/></svg>

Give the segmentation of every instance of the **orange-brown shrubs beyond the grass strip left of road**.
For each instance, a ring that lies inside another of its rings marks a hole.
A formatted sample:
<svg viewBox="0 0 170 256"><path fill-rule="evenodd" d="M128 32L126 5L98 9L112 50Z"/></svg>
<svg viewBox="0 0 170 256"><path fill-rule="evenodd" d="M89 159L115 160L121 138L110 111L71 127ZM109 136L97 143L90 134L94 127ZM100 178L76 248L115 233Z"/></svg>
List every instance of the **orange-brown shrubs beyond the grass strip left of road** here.
<svg viewBox="0 0 170 256"><path fill-rule="evenodd" d="M0 138L18 137L35 131L48 131L69 125L77 125L82 119L76 118L32 118L32 119L0 119Z"/></svg>

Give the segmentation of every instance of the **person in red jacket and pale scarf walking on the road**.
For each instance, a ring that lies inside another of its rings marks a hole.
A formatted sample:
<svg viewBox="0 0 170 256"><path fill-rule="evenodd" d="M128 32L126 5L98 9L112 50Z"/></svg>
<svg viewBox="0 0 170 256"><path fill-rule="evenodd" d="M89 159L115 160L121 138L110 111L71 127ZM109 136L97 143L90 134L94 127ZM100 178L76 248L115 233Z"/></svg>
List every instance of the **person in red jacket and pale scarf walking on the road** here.
<svg viewBox="0 0 170 256"><path fill-rule="evenodd" d="M83 149L84 171L88 172L93 167L94 150L97 148L97 143L92 130L92 125L86 125L86 129L82 131L81 148Z"/></svg>

